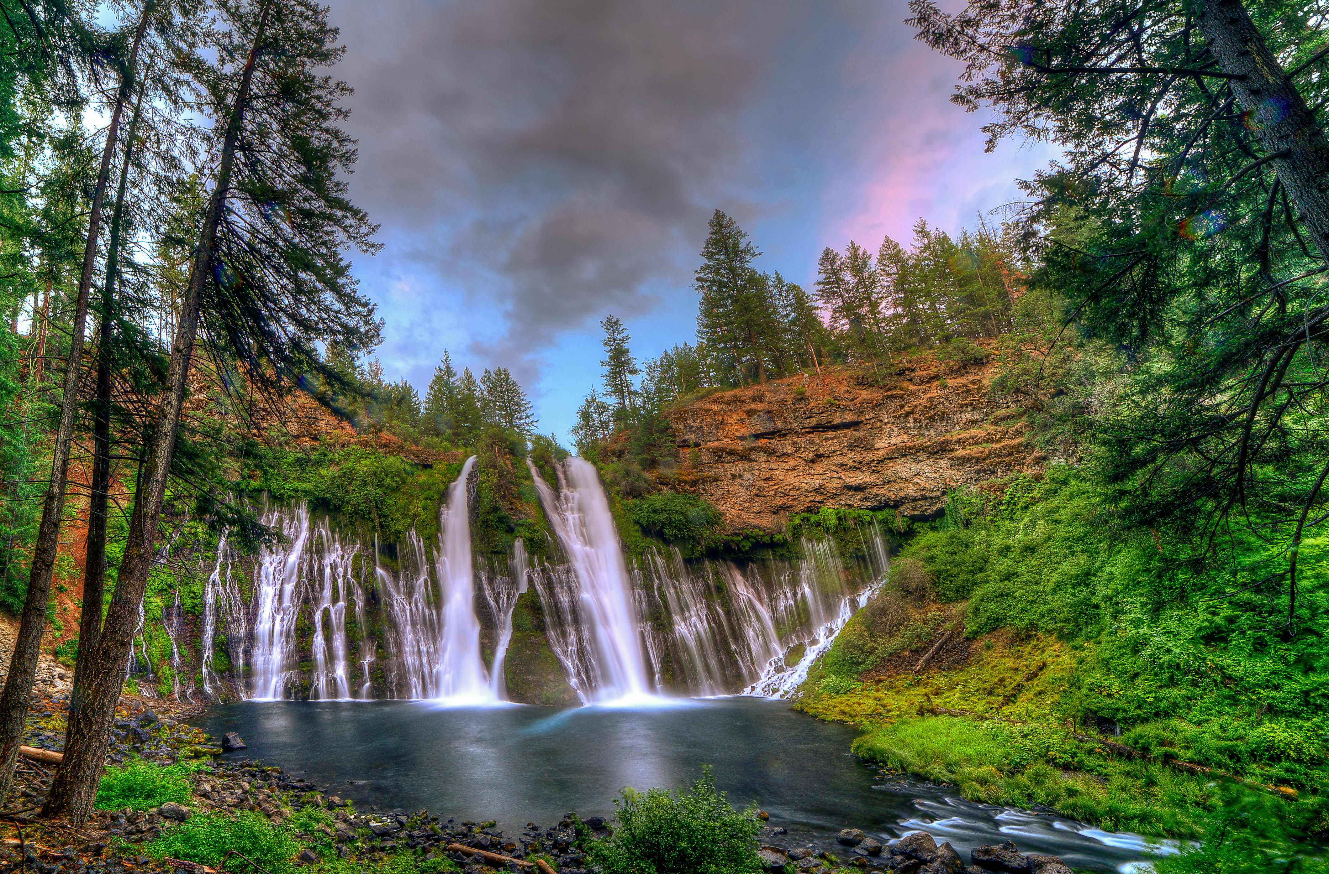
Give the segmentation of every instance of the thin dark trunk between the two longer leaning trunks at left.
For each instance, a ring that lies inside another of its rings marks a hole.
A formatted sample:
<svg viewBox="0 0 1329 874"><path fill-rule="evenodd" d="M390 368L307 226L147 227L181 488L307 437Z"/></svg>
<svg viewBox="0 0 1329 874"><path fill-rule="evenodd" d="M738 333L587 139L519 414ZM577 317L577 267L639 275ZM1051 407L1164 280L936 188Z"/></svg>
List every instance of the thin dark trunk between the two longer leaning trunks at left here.
<svg viewBox="0 0 1329 874"><path fill-rule="evenodd" d="M106 280L101 290L101 320L97 325L97 396L93 401L93 462L88 499L88 539L84 550L82 614L78 618L78 655L74 660L74 683L69 692L69 712L82 705L84 664L101 636L101 610L106 584L106 503L110 493L110 367L114 333L116 282L120 264L120 228L125 215L125 191L129 187L129 162L134 154L134 134L142 112L144 93L129 121L125 137L125 159L120 166L116 209L110 215L110 239L106 242Z"/></svg>

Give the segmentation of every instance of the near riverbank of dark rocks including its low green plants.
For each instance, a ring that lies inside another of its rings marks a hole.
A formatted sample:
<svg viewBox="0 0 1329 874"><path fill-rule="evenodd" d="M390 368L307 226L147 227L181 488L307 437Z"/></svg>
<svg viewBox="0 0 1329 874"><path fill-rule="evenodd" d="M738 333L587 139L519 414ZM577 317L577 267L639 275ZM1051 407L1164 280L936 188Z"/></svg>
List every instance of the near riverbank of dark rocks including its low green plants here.
<svg viewBox="0 0 1329 874"><path fill-rule="evenodd" d="M518 861L542 859L558 874L579 874L587 871L590 842L607 837L613 825L603 817L578 820L569 813L545 828L526 824L513 830L493 820L460 821L444 812L356 804L276 762L241 758L247 752L201 754L217 750L219 737L175 719L187 712L187 705L177 709L155 704L155 709L130 705L120 712L110 758L121 765L108 770L114 785L104 788L102 798L113 794L117 809L98 812L78 829L35 818L33 812L11 816L5 821L8 842L0 846L0 870L25 866L36 874L165 874L174 869L207 874L207 869L225 867L284 874L307 867L310 874L431 874L459 869L489 874L534 871ZM167 712L174 716L163 715ZM33 712L29 740L58 750L61 720L61 703L44 700ZM140 768L136 761L152 766ZM52 770L25 761L23 773L17 796L35 808ZM884 772L876 776L888 777ZM870 780L868 774L864 778ZM16 801L12 797L7 809L13 810ZM870 826L839 833L787 828L775 816L763 822L758 841L764 847L766 870L788 873L856 869L960 874L969 865L968 849L956 851L940 838L906 834L905 839L877 839L876 834ZM482 857L470 850L514 861L477 862ZM1057 867L1051 857L1017 858L1014 846L999 849L993 843L973 850L979 861L995 859L995 867L978 869L983 871L1009 870L1010 863L1041 874L1071 870Z"/></svg>

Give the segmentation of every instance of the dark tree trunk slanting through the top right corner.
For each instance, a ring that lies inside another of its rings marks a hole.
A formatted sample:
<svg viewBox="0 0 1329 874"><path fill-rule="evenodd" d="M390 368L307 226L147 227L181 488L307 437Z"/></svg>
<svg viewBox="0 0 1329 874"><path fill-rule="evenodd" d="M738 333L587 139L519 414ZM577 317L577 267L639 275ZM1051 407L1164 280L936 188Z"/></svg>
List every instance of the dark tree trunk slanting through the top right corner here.
<svg viewBox="0 0 1329 874"><path fill-rule="evenodd" d="M1208 0L1200 13L1205 45L1241 108L1253 114L1255 135L1298 218L1329 258L1329 138L1316 124L1278 60L1239 0Z"/></svg>

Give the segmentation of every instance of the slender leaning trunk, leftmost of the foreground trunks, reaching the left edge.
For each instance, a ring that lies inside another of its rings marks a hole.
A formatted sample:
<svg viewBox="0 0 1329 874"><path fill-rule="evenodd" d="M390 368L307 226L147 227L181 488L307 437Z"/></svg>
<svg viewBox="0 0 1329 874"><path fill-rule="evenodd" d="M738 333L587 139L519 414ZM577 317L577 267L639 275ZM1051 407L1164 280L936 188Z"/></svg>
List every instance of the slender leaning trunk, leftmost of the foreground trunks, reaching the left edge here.
<svg viewBox="0 0 1329 874"><path fill-rule="evenodd" d="M37 675L37 656L41 652L41 632L47 624L47 600L51 596L51 574L60 549L60 518L65 509L65 478L69 474L69 445L74 433L74 417L78 413L78 383L82 373L84 327L88 321L88 298L92 291L92 271L97 263L97 234L101 230L101 205L106 197L106 179L110 175L110 159L116 153L116 135L120 131L120 116L129 100L133 85L134 61L144 32L148 29L148 16L154 0L148 0L138 20L133 48L125 73L121 76L120 92L116 94L116 108L106 129L106 146L101 151L101 166L97 169L97 183L93 189L92 209L88 214L88 242L84 246L82 274L78 278L78 296L74 303L74 319L69 332L69 360L65 364L64 394L60 400L60 425L52 446L51 485L41 505L41 526L37 529L37 542L32 550L32 567L28 574L28 595L23 603L23 623L13 644L13 657L9 661L9 676L4 692L0 693L0 801L9 793L13 781L13 768L19 758L19 744L23 740L23 723L32 700L32 681Z"/></svg>

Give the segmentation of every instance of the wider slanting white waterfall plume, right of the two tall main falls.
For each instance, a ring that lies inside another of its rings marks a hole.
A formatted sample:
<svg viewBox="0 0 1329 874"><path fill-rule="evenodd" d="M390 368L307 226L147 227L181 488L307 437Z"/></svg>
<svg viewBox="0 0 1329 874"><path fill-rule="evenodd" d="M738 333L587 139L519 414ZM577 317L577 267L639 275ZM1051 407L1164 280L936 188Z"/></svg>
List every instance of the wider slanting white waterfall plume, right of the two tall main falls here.
<svg viewBox="0 0 1329 874"><path fill-rule="evenodd" d="M526 464L578 584L577 610L570 610L570 603L560 607L579 616L578 624L589 630L593 644L594 660L586 665L590 671L583 671L590 684L578 693L594 701L651 695L631 578L595 466L569 457L558 469L561 489L556 495L529 458Z"/></svg>

